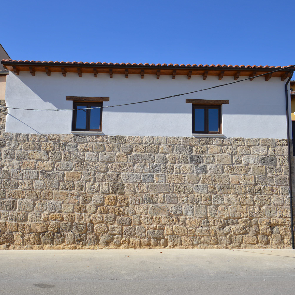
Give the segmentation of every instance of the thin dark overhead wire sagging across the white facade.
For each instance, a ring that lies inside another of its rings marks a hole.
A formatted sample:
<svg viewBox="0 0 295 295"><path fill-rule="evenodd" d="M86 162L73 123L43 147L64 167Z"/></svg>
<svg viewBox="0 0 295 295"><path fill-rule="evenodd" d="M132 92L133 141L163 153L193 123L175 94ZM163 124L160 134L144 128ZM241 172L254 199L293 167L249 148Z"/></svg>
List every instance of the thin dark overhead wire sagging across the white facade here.
<svg viewBox="0 0 295 295"><path fill-rule="evenodd" d="M295 67L295 65L289 65L288 67L281 68L281 69L278 69L278 70L275 70L275 71L271 71L271 72L268 72L267 74L275 73L275 72L278 72L278 71L284 71L284 70L286 70L288 68L293 68L293 67ZM190 91L190 92L186 92L186 93L174 94L174 95L170 95L170 96L165 96L165 97L156 98L156 99L149 99L149 100L144 100L144 101L130 102L130 103L127 103L127 104L117 104L117 105L114 105L114 106L96 106L96 107L83 108L83 109L25 109L25 108L14 108L14 107L1 106L1 105L0 105L0 107L1 108L6 108L6 109L27 110L27 111L76 111L76 110L87 110L87 109L112 108L112 107L116 107L116 106L128 106L128 105L131 105L131 104L142 104L142 103L145 103L145 102L157 101L157 100L168 99L168 98L177 97L177 96L181 96L181 95L196 93L196 92L200 92L200 91L214 89L214 88L217 88L217 87L222 87L222 86L226 86L226 85L239 83L239 82L246 81L246 80L249 80L249 79L254 79L254 78L257 78L257 77L265 76L267 74L264 73L264 74L260 74L260 75L257 75L257 76L245 78L245 79L242 79L242 80L237 80L237 81L233 81L233 82L230 82L230 83L215 85L215 86L212 86L212 87L199 89L199 90L195 90L195 91Z"/></svg>

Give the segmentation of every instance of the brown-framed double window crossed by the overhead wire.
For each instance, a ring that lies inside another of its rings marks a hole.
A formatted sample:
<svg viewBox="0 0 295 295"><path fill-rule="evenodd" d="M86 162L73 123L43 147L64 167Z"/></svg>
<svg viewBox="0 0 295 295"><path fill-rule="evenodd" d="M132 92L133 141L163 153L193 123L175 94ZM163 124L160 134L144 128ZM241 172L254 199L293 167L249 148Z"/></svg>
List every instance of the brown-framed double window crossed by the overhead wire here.
<svg viewBox="0 0 295 295"><path fill-rule="evenodd" d="M101 118L102 108L99 109L87 109L96 108L102 106L102 102L74 102L73 111L73 131L101 131ZM81 109L81 110L79 110Z"/></svg>

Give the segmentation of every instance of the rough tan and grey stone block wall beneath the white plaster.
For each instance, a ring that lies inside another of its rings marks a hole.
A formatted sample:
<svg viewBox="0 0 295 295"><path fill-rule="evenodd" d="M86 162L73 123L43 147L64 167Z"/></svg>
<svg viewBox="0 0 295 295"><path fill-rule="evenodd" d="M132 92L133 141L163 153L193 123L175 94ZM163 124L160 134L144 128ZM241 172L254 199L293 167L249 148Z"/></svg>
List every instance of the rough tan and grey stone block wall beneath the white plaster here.
<svg viewBox="0 0 295 295"><path fill-rule="evenodd" d="M286 140L16 134L1 120L2 249L290 247Z"/></svg>

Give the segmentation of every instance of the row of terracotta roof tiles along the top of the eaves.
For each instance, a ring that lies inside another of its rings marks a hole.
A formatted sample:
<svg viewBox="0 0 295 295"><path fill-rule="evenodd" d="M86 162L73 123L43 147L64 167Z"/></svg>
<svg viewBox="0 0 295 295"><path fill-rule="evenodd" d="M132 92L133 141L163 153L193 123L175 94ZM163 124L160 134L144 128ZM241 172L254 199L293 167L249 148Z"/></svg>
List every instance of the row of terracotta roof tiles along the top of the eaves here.
<svg viewBox="0 0 295 295"><path fill-rule="evenodd" d="M166 67L167 64L166 63L163 63L163 64L160 64L160 63L157 63L157 64L154 64L154 63L145 63L145 64L142 64L142 63L101 63L101 62L85 62L83 63L82 61L79 61L79 62L76 62L76 61L73 61L73 62L70 62L70 61L67 61L67 62L64 62L64 61L52 61L52 60L49 60L49 61L40 61L40 60L12 60L12 59L3 59L2 61L6 61L6 62L17 62L17 63L55 63L55 64L79 64L79 65L140 65L140 66L163 66L163 67ZM287 66L269 66L269 65L265 65L265 66L262 66L262 65L220 65L220 64L217 64L217 65L202 65L202 64L199 64L199 65L196 65L195 63L190 65L190 64L187 64L187 65L184 65L183 63L178 65L177 63L175 64L172 64L172 63L169 63L168 66L173 66L173 67L221 67L221 68L276 68L276 69L279 69L279 68L286 68Z"/></svg>

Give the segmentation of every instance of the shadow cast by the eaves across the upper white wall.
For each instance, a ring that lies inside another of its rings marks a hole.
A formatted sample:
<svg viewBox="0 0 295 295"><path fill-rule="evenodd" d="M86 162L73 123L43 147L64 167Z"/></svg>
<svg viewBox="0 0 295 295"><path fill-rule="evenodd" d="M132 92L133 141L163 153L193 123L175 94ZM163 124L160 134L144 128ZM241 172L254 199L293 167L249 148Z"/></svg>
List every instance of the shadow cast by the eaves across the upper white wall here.
<svg viewBox="0 0 295 295"><path fill-rule="evenodd" d="M126 79L124 75L114 74L111 79L106 74L99 74L98 78L95 78L92 74L85 73L82 77L78 77L76 73L67 73L66 77L61 73L51 73L48 77L46 73L36 72L32 77L29 72L21 72L15 78L22 82L22 85L16 88L19 97L40 98L44 102L50 102L57 109L72 108L73 104L65 100L66 96L107 96L110 97L109 102L104 102L104 106L107 106L156 99L232 82L230 78L219 81L215 76L208 77L206 82L201 76L192 77L191 80L187 80L186 76L177 76L175 80L164 75L160 79L156 79L153 75L146 75L144 79L140 79L140 75L129 76ZM108 112L188 114L191 113L191 104L186 104L185 99L229 99L230 103L222 106L223 114L283 115L282 83L279 79L268 83L262 77L204 92L107 110ZM278 97L281 97L281 103Z"/></svg>

